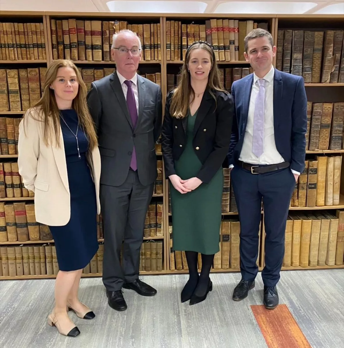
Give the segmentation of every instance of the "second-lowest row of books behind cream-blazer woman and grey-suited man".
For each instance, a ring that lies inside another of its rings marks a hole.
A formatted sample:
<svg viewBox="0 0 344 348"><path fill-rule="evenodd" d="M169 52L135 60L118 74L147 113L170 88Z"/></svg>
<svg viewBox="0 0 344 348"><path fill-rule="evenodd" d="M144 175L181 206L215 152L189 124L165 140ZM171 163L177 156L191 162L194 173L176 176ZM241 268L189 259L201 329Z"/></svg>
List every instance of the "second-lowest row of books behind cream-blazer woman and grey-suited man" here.
<svg viewBox="0 0 344 348"><path fill-rule="evenodd" d="M144 237L163 236L162 212L163 204L152 200L146 213ZM97 215L97 237L104 238L101 214ZM0 202L0 243L52 239L49 227L36 221L33 202Z"/></svg>

